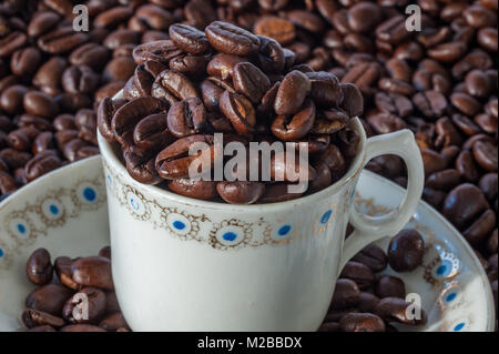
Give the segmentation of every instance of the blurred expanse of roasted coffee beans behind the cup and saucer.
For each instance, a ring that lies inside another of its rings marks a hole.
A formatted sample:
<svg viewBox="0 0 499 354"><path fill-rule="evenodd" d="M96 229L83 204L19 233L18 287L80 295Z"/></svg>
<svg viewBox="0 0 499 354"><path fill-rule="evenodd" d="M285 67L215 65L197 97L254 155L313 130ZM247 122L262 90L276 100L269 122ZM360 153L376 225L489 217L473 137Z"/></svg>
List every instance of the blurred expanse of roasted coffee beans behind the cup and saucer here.
<svg viewBox="0 0 499 354"><path fill-rule="evenodd" d="M406 0L90 0L90 32L74 33L77 2L3 1L1 194L96 153L95 120L85 109L123 88L136 44L169 39L175 22L203 30L223 20L274 38L297 63L355 83L369 134L415 132L424 199L473 246L497 300L498 1L411 2L422 10L420 32L405 29ZM398 158L377 158L369 169L406 183Z"/></svg>

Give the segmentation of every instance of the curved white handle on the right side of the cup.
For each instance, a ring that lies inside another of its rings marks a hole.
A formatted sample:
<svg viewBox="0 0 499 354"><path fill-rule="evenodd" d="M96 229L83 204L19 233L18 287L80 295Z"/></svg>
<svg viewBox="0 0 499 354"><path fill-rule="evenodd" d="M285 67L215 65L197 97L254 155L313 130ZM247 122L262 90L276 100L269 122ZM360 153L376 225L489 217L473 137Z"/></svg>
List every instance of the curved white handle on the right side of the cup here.
<svg viewBox="0 0 499 354"><path fill-rule="evenodd" d="M345 241L339 270L369 243L399 232L410 220L421 198L425 182L422 158L413 132L404 129L368 139L364 166L370 159L383 154L396 154L405 161L408 174L407 193L397 209L380 216L359 213L354 203L350 205L349 222L355 231Z"/></svg>

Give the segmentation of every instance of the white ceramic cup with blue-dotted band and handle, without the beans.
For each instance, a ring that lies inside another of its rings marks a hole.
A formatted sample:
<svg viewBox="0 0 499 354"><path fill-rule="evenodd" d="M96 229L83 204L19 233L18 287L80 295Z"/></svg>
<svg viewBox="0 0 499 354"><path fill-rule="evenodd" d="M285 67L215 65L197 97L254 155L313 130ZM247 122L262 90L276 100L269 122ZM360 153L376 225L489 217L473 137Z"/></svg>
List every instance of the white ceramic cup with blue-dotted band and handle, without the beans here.
<svg viewBox="0 0 499 354"><path fill-rule="evenodd" d="M114 285L133 331L315 331L344 264L409 221L424 185L408 130L366 140L335 184L297 200L233 205L182 196L133 180L99 134L108 182ZM352 208L374 156L397 154L407 194L389 214ZM355 232L346 242L347 222Z"/></svg>

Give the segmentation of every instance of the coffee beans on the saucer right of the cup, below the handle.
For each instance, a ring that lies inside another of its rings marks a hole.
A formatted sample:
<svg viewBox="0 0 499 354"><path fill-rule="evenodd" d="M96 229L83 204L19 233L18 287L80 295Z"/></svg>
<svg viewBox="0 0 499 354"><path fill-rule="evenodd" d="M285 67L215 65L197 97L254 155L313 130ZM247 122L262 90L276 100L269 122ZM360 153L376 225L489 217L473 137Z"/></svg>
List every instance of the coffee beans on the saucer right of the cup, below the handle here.
<svg viewBox="0 0 499 354"><path fill-rule="evenodd" d="M394 275L377 275L388 265L396 272L411 272L421 265L424 255L425 241L413 229L395 235L386 253L375 244L357 253L339 274L319 331L397 332L394 324L425 325L426 312L406 301L404 281Z"/></svg>

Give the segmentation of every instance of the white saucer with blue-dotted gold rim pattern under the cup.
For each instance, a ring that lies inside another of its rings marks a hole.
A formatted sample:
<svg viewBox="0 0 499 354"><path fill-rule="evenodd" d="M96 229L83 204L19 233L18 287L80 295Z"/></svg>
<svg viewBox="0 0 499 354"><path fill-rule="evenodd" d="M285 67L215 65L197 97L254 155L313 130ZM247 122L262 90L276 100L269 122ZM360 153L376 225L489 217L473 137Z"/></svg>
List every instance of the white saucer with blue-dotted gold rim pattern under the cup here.
<svg viewBox="0 0 499 354"><path fill-rule="evenodd" d="M0 203L0 331L18 331L24 299L34 287L24 275L38 247L59 255L93 255L109 244L108 205L101 159L53 171ZM355 202L370 214L395 208L404 190L364 171ZM424 264L398 274L428 313L418 331L492 331L493 300L487 276L469 247L440 214L420 202L410 222L426 239ZM388 240L379 242L386 247ZM384 273L394 273L389 269ZM332 275L333 276L333 275ZM410 328L401 328L409 330Z"/></svg>

